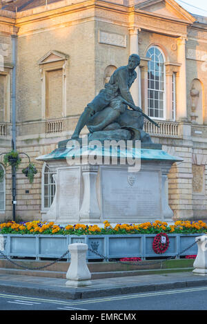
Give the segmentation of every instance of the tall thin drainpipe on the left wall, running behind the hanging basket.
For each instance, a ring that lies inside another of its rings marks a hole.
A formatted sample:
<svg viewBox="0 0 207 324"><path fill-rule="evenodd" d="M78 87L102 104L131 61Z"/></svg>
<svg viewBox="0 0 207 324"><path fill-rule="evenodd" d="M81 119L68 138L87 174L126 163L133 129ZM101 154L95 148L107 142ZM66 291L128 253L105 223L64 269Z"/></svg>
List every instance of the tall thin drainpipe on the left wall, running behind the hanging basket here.
<svg viewBox="0 0 207 324"><path fill-rule="evenodd" d="M12 150L16 151L16 65L17 65L17 35L12 35ZM16 216L16 166L12 164L12 215Z"/></svg>

